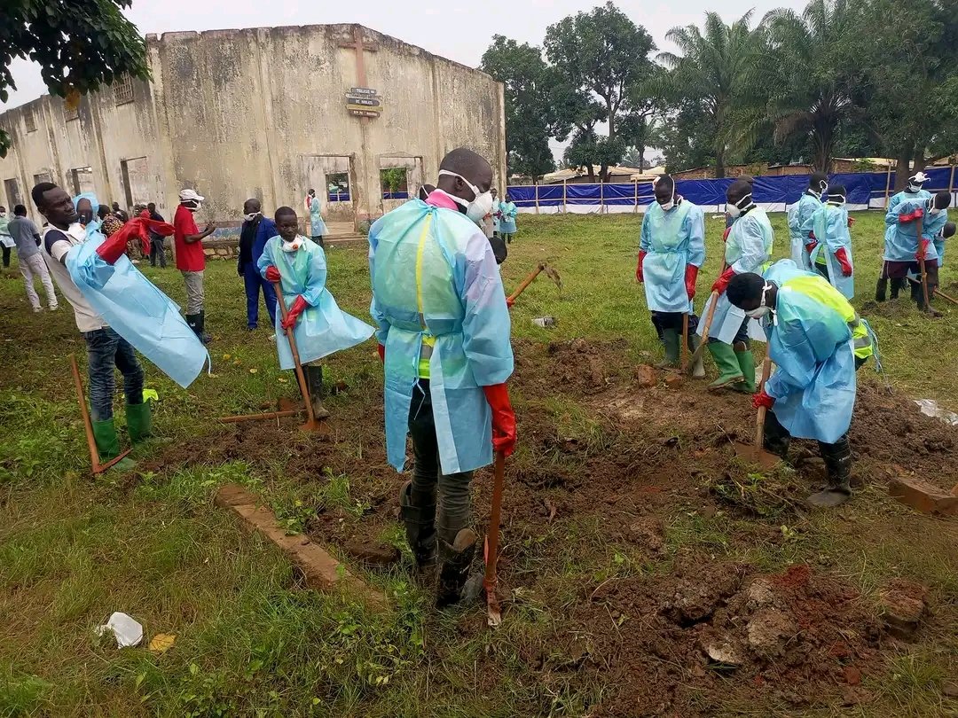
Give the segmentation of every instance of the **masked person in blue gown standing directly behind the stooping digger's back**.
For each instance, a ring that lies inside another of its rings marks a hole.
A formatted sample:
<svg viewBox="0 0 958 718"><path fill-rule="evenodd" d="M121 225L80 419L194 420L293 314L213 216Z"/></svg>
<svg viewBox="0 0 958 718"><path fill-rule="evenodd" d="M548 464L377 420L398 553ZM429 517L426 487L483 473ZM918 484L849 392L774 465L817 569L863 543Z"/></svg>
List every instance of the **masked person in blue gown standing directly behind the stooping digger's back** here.
<svg viewBox="0 0 958 718"><path fill-rule="evenodd" d="M845 209L845 188L829 188L829 201L811 215L815 239L810 243L811 266L845 299L855 297L855 265L852 263L851 220ZM797 263L797 262L796 262Z"/></svg>

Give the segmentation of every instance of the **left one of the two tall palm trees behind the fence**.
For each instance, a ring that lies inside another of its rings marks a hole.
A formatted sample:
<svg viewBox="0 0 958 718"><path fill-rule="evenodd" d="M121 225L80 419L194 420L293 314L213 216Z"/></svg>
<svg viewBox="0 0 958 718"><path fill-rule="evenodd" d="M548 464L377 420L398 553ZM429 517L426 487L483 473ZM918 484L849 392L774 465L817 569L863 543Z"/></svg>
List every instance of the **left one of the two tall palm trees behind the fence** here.
<svg viewBox="0 0 958 718"><path fill-rule="evenodd" d="M731 25L726 25L718 12L706 12L704 33L695 25L688 25L666 34L681 55L658 55L659 61L673 71L669 84L676 99L700 104L716 130L716 177L725 176L733 111L755 60L755 38L748 27L752 12L746 12Z"/></svg>

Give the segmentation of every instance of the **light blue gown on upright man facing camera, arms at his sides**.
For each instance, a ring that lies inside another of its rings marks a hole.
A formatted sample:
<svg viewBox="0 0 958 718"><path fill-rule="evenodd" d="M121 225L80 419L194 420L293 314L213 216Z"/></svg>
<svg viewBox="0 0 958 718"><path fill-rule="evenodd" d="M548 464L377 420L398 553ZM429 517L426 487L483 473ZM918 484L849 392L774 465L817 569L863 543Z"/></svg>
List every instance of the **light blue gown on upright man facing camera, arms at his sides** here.
<svg viewBox="0 0 958 718"><path fill-rule="evenodd" d="M705 261L705 218L701 209L682 200L669 212L653 202L642 219L639 249L646 303L653 312L692 312L685 291L687 264Z"/></svg>

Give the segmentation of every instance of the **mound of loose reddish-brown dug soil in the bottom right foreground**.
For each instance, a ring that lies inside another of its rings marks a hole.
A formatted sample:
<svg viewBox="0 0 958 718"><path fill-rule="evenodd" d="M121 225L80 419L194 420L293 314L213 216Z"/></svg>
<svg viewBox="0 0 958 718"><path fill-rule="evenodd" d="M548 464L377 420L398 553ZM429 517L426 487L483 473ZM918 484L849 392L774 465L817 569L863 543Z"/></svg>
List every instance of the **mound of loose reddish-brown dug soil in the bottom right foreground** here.
<svg viewBox="0 0 958 718"><path fill-rule="evenodd" d="M841 582L696 558L609 581L576 609L562 636L588 637L582 665L614 686L590 715L715 715L756 693L814 707L880 668L878 618Z"/></svg>

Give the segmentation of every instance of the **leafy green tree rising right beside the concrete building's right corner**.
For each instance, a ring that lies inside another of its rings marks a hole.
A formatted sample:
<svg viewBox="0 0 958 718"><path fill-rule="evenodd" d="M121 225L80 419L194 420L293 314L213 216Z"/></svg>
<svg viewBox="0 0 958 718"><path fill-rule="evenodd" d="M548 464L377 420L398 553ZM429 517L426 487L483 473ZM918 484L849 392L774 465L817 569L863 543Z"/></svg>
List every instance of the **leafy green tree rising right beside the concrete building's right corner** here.
<svg viewBox="0 0 958 718"><path fill-rule="evenodd" d="M528 175L536 182L555 168L549 137L563 128L568 133L552 103L551 72L538 48L499 34L492 37L480 68L504 86L509 173Z"/></svg>

